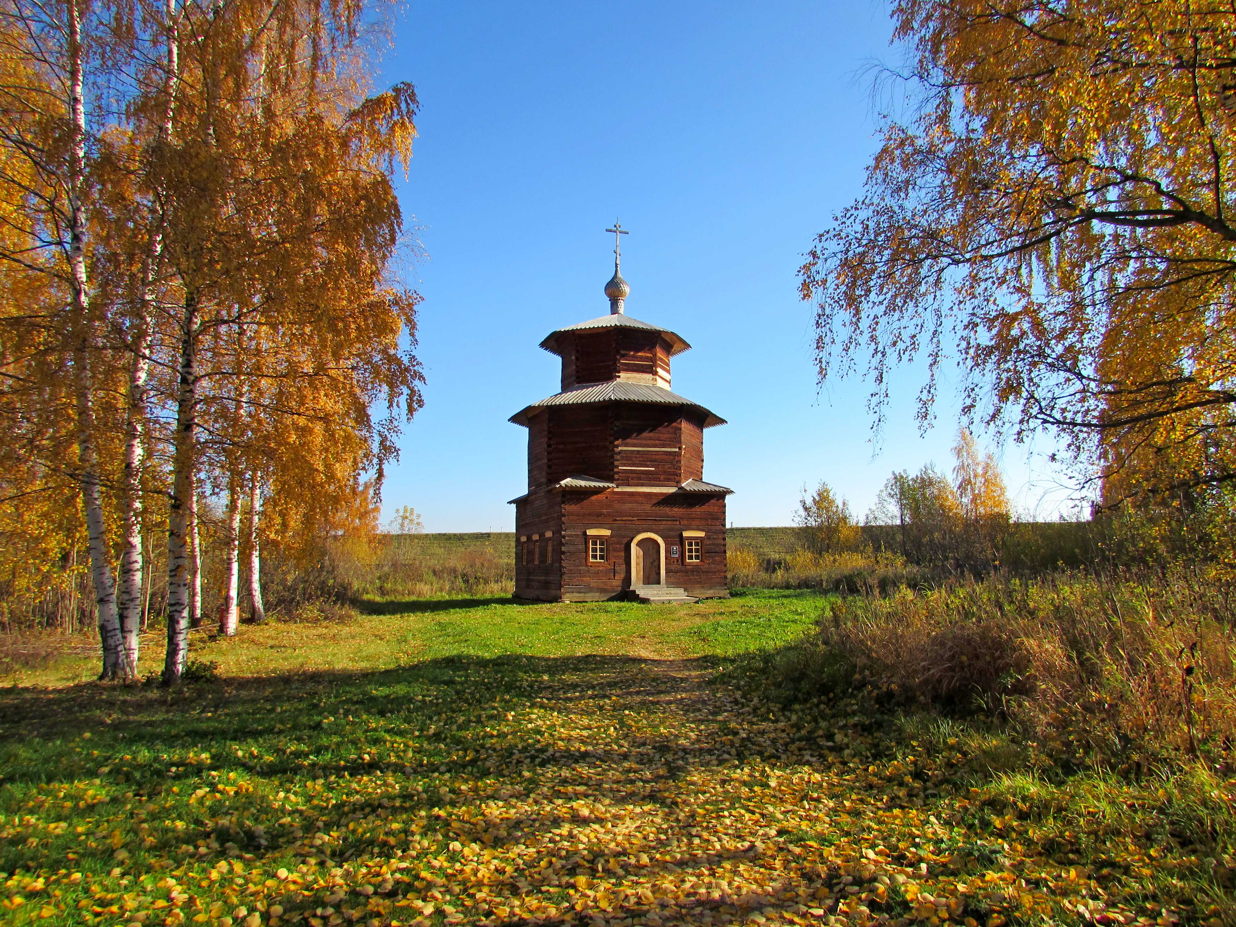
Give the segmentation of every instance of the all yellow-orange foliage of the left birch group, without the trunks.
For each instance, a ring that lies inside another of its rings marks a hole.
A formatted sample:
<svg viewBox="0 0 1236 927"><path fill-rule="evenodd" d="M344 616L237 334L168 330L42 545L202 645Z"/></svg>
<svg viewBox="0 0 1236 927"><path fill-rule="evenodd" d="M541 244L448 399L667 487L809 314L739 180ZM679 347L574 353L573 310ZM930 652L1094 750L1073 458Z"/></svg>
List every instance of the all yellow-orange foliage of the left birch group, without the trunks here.
<svg viewBox="0 0 1236 927"><path fill-rule="evenodd" d="M405 84L377 93L370 77L372 38L392 10L352 0L126 0L109 9L88 75L120 95L90 141L89 279L108 339L93 358L105 492L119 485L141 308L152 314L143 486L156 514L176 494L169 488L183 496L187 481L177 483L176 472L193 467L206 493L230 472L256 472L272 538L287 525L284 543L314 549L358 498L376 493L367 480L381 477L400 421L421 403L418 298L397 279L402 215L392 182L412 154L417 98ZM171 119L168 16L179 77ZM0 251L9 265L0 274L0 426L16 440L0 444L0 549L37 561L23 580L31 586L79 531L75 508L63 504L69 496L52 492L70 482L62 471L75 450L63 326L54 324L66 297L46 268L28 279L19 272L22 261L44 260L31 248L40 190L37 176L21 173L28 158L10 156L20 133L36 131L54 156L64 114L40 109L54 95L23 99L38 96L42 75L7 22L0 16ZM195 377L180 402L190 304ZM195 417L192 442L171 431L178 404ZM72 515L72 524L62 530L41 517L44 498L48 515ZM2 501L14 499L21 510L6 513ZM109 529L119 527L112 520ZM14 531L25 540L9 543Z"/></svg>

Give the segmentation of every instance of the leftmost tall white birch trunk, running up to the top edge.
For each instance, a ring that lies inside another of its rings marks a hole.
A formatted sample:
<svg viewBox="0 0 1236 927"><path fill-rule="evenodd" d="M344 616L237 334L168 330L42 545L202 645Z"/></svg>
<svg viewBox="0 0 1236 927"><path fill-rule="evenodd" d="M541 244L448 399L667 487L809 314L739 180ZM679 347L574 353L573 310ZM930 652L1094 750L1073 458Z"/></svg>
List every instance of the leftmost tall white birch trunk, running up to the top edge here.
<svg viewBox="0 0 1236 927"><path fill-rule="evenodd" d="M78 481L85 512L90 549L90 577L99 612L99 638L103 643L103 670L99 679L115 679L121 672L120 618L116 588L108 556L108 530L103 514L99 454L95 446L94 382L90 360L94 351L94 323L90 318L90 292L85 262L85 49L82 42L82 17L78 0L69 0L68 66L69 115L72 140L68 157L68 265L74 330L74 388L77 392Z"/></svg>

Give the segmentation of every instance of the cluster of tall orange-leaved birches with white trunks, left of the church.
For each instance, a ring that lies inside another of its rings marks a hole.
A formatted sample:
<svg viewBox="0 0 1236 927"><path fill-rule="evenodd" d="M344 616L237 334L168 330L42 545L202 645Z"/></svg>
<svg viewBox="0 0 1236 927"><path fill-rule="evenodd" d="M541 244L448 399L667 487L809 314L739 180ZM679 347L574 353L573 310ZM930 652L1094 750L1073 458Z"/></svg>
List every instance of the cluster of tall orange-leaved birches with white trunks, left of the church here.
<svg viewBox="0 0 1236 927"><path fill-rule="evenodd" d="M152 499L174 682L200 614L199 491L231 483L230 614L247 551L261 620L268 513L329 524L314 510L379 481L420 404L392 185L417 100L370 84L386 15L0 0L0 423L15 436L0 520L75 494L80 524L74 506L46 519L61 541L41 549L85 535L104 677L137 674Z"/></svg>

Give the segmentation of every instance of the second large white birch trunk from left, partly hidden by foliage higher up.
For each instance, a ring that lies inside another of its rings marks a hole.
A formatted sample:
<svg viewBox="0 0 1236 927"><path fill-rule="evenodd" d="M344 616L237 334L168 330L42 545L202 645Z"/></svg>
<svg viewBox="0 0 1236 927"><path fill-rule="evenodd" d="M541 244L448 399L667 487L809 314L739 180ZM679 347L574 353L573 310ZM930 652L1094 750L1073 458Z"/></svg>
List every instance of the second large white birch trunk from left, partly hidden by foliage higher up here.
<svg viewBox="0 0 1236 927"><path fill-rule="evenodd" d="M163 78L163 122L159 142L172 136L172 114L179 79L179 47L177 44L176 1L167 0L164 32L167 52ZM129 408L125 415L125 471L124 471L124 549L120 555L120 633L125 679L137 679L138 633L142 625L142 431L147 418L150 389L151 311L154 300L153 283L163 252L162 219L153 218L142 261L141 298L138 318L133 331L133 362L129 372Z"/></svg>

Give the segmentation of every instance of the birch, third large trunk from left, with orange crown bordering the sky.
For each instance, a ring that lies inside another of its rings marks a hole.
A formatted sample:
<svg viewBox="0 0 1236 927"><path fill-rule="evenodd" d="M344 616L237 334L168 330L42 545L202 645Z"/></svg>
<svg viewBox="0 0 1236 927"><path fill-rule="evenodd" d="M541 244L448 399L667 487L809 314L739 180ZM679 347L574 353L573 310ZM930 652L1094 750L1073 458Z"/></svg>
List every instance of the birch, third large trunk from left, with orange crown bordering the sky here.
<svg viewBox="0 0 1236 927"><path fill-rule="evenodd" d="M180 124L197 130L176 146L166 245L184 294L168 684L187 658L183 513L198 429L226 418L229 396L247 408L258 402L221 384L237 377L274 384L260 400L258 418L277 436L268 449L292 444L290 429L349 430L360 447L352 462L378 468L394 451L398 419L420 402L407 347L415 299L387 281L400 230L389 174L410 156L410 88L366 96L358 7L253 2L205 15L187 6L184 15L198 37L182 48L182 87L197 91L182 94L194 111ZM236 326L265 334L252 371L229 367L234 355L220 347ZM370 412L376 402L387 409L378 421ZM329 468L336 454L331 447L310 468Z"/></svg>

